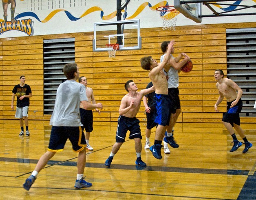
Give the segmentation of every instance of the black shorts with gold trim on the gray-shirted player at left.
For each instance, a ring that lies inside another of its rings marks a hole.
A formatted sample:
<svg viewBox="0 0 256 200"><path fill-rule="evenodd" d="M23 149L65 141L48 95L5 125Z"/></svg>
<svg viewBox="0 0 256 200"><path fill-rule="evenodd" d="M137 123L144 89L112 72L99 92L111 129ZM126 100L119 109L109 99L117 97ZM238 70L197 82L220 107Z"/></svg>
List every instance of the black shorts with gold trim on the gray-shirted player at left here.
<svg viewBox="0 0 256 200"><path fill-rule="evenodd" d="M67 140L70 140L73 151L79 152L86 146L85 136L81 127L55 127L51 128L48 151L63 151Z"/></svg>

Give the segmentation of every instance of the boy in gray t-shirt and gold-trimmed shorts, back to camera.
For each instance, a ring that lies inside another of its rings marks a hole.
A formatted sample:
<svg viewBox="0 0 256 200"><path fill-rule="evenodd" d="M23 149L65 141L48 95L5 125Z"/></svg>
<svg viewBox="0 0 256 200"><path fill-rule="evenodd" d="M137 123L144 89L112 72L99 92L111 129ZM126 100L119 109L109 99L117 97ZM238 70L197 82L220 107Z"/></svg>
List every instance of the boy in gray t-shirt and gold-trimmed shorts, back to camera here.
<svg viewBox="0 0 256 200"><path fill-rule="evenodd" d="M73 151L78 152L75 187L82 188L92 186L92 183L88 183L84 180L86 141L81 129L82 123L80 120L79 105L81 102L84 109L93 110L95 108L102 108L102 103L91 104L88 102L84 85L76 82L79 78L79 69L76 63L66 64L63 68L63 72L68 80L60 84L57 89L54 110L50 121L50 125L53 126L49 146L47 152L39 159L31 176L29 176L23 184L26 190L30 189L38 173L55 153L63 151L67 139L70 140Z"/></svg>

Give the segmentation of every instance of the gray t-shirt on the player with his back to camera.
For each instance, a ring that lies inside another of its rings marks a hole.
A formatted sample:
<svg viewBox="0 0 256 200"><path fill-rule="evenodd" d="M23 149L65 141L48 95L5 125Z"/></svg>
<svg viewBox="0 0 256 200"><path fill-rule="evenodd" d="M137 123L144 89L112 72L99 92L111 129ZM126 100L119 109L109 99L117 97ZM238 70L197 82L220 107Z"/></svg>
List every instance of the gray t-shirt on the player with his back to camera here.
<svg viewBox="0 0 256 200"><path fill-rule="evenodd" d="M66 80L57 89L50 125L56 127L82 126L79 105L80 101L88 101L83 84L75 80Z"/></svg>

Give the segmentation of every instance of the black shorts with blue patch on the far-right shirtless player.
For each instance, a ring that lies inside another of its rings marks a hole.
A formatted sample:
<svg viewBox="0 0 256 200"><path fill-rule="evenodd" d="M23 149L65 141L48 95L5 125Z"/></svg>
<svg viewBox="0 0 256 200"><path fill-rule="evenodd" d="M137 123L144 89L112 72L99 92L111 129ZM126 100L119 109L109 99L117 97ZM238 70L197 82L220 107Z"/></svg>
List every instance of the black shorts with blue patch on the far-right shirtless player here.
<svg viewBox="0 0 256 200"><path fill-rule="evenodd" d="M223 115L222 121L230 123L232 127L234 127L233 123L235 123L236 125L240 125L239 113L243 108L243 101L239 99L237 104L233 108L230 108L232 102L233 101L227 102L227 112L225 112L225 114Z"/></svg>

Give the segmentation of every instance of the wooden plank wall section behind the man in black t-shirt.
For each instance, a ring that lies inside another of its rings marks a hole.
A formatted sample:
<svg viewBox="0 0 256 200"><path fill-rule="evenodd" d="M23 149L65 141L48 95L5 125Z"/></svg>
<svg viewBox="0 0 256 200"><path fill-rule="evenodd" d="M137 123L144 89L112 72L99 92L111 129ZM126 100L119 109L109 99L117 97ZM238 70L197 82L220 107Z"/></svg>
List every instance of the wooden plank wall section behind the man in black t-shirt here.
<svg viewBox="0 0 256 200"><path fill-rule="evenodd" d="M42 118L43 115L43 39L17 39L2 42L3 55L3 118L14 118L11 110L13 87L20 84L20 76L26 77L26 84L31 86L30 118ZM14 108L16 106L16 97Z"/></svg>

